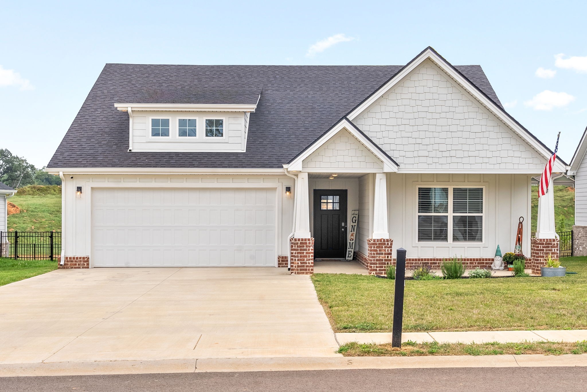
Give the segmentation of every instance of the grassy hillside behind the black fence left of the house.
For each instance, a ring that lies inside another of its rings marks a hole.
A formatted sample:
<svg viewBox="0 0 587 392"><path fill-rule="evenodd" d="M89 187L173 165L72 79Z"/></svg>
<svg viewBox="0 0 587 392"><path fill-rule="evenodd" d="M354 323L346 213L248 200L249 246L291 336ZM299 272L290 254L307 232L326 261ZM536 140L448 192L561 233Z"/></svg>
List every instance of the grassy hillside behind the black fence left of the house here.
<svg viewBox="0 0 587 392"><path fill-rule="evenodd" d="M61 231L61 195L14 195L8 201L21 208L8 215L9 231Z"/></svg>

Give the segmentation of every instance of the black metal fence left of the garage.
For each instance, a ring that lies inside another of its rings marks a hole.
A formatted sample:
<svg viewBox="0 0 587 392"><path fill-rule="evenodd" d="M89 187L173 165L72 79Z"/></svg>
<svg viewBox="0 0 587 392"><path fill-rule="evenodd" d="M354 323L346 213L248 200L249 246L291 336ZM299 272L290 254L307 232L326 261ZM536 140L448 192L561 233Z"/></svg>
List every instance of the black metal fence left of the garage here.
<svg viewBox="0 0 587 392"><path fill-rule="evenodd" d="M29 260L57 260L60 255L60 232L0 231L1 257Z"/></svg>

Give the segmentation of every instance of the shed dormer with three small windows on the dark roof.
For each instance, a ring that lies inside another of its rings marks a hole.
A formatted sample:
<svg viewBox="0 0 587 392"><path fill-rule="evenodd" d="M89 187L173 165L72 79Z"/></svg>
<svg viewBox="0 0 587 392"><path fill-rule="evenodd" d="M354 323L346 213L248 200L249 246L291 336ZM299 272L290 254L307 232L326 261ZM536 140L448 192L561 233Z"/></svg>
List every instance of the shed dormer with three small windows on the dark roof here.
<svg viewBox="0 0 587 392"><path fill-rule="evenodd" d="M114 106L129 113L129 151L244 153L260 98L261 89L143 89Z"/></svg>

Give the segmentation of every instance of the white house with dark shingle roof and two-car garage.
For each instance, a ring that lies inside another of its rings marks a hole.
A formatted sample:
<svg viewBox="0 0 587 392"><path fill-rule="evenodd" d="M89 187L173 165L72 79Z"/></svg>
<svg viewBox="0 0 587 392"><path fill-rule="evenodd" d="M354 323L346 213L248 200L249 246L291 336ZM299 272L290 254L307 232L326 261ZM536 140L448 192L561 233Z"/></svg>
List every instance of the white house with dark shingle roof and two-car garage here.
<svg viewBox="0 0 587 392"><path fill-rule="evenodd" d="M404 66L108 64L48 171L64 268L312 273L356 229L356 259L381 274L400 247L408 266L488 267L497 245L513 251L519 217L525 255L558 252L552 192L529 232L551 154L480 66L426 48Z"/></svg>

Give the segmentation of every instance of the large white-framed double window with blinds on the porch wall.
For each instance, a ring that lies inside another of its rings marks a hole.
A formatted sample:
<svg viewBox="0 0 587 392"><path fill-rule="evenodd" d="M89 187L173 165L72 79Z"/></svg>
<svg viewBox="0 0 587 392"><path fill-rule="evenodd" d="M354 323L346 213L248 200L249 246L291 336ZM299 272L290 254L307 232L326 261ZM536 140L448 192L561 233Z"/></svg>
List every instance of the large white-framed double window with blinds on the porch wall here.
<svg viewBox="0 0 587 392"><path fill-rule="evenodd" d="M483 242L483 187L418 187L418 242Z"/></svg>

